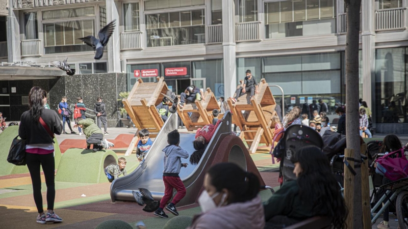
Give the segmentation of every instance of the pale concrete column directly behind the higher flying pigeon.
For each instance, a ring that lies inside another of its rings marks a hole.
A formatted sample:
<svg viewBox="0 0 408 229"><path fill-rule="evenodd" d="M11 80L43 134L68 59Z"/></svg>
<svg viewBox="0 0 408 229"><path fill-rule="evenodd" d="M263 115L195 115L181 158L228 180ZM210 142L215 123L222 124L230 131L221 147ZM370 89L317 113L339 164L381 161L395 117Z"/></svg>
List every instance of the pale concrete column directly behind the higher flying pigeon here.
<svg viewBox="0 0 408 229"><path fill-rule="evenodd" d="M120 20L119 12L117 7L120 4L118 1L106 0L106 16L107 23L116 19L115 30L109 39L107 49L108 49L108 72L109 73L120 73Z"/></svg>

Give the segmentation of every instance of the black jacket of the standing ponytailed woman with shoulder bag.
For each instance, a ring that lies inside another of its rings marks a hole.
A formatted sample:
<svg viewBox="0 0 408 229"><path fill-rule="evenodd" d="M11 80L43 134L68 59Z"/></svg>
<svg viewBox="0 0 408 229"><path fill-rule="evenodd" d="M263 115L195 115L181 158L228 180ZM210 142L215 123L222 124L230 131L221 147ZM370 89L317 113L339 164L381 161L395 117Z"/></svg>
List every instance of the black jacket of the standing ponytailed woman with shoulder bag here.
<svg viewBox="0 0 408 229"><path fill-rule="evenodd" d="M41 118L53 133L58 135L62 133L62 125L57 112L50 109L42 109ZM21 115L18 135L20 135L21 139L26 140L27 145L54 142L54 139L49 136L40 122L33 122L29 110Z"/></svg>

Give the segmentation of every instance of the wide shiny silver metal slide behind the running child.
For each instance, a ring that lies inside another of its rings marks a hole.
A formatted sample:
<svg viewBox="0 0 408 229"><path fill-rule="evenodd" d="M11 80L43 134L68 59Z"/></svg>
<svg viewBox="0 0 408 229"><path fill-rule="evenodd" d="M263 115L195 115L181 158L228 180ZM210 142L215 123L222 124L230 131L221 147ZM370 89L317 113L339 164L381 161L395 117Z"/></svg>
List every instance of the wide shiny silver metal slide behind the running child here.
<svg viewBox="0 0 408 229"><path fill-rule="evenodd" d="M231 134L231 112L226 112L223 118L225 122L218 126L197 165L190 164L190 157L187 159L182 158L182 163L189 164L187 168L182 167L180 171L180 178L186 186L187 194L178 206L185 206L195 202L197 194L202 186L202 177L204 176L204 174L202 174L203 169L210 166L207 162L210 159L210 161L214 159L215 152L220 146L222 139ZM167 134L170 131L177 129L177 120L177 113L171 114L141 164L131 174L112 182L112 202L116 200L135 201L132 190L137 190L138 188L147 188L157 200L160 200L163 197L164 152L162 152L162 150L168 145ZM186 150L190 155L195 151L192 143L194 139L195 133L180 133L180 147Z"/></svg>

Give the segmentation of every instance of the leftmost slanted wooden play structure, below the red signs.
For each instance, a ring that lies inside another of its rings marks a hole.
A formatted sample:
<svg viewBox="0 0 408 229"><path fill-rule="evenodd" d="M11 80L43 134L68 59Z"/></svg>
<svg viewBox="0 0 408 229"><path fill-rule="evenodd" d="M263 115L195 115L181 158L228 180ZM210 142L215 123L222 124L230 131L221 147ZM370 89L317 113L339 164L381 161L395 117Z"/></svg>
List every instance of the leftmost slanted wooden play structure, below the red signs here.
<svg viewBox="0 0 408 229"><path fill-rule="evenodd" d="M150 137L156 137L164 122L156 106L163 101L163 95L168 90L164 77L157 77L157 82L143 82L139 78L129 96L122 100L127 114L136 126L136 134L126 151L130 155L139 140L139 130L147 129Z"/></svg>

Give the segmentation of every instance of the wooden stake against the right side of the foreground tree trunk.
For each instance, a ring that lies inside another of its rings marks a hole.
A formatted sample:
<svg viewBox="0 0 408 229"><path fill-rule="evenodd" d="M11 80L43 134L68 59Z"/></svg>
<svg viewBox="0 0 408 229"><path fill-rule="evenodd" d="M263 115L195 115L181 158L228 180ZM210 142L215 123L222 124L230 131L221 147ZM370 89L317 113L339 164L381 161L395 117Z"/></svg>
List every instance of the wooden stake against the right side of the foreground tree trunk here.
<svg viewBox="0 0 408 229"><path fill-rule="evenodd" d="M367 145L360 146L360 153L368 156ZM368 160L361 164L361 196L363 202L363 228L371 228L370 185L368 181Z"/></svg>

